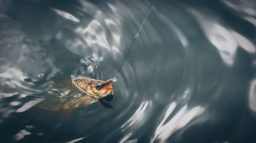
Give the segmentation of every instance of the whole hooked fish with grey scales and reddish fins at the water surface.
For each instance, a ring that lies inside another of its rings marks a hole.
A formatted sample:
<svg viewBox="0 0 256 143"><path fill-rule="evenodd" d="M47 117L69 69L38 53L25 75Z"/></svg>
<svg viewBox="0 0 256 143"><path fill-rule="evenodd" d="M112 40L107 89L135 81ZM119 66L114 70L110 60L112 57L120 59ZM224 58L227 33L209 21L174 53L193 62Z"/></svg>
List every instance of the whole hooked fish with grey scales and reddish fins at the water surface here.
<svg viewBox="0 0 256 143"><path fill-rule="evenodd" d="M37 94L33 94L38 101L33 107L43 117L44 110L59 111L61 120L65 121L72 110L86 107L100 99L113 94L113 79L107 81L88 77L73 77L55 81Z"/></svg>

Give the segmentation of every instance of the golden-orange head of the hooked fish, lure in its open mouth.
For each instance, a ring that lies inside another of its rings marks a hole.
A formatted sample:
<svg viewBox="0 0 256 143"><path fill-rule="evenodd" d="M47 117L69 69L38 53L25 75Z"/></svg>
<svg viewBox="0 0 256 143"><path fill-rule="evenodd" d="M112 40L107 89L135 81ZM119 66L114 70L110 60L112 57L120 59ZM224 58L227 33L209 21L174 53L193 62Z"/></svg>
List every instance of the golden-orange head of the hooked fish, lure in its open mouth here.
<svg viewBox="0 0 256 143"><path fill-rule="evenodd" d="M112 86L113 79L109 79L105 82L100 82L93 87L93 95L96 95L97 97L103 98L107 95L110 95L113 93L113 86Z"/></svg>

